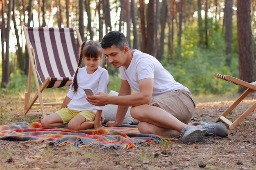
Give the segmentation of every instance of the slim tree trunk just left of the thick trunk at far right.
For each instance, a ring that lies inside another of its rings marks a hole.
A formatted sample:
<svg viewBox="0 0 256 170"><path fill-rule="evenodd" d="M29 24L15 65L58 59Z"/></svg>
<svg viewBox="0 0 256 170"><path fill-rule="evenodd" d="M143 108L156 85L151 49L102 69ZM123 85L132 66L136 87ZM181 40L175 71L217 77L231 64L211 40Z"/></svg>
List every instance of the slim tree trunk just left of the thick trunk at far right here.
<svg viewBox="0 0 256 170"><path fill-rule="evenodd" d="M225 41L226 41L226 65L231 66L231 43L232 43L232 16L233 16L233 0L225 0Z"/></svg>

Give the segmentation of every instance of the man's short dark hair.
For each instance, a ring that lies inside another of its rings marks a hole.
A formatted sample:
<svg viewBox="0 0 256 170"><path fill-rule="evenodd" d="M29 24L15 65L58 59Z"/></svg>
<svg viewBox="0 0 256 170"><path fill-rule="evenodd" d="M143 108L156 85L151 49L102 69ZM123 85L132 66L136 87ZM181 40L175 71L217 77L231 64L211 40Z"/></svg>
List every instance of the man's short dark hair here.
<svg viewBox="0 0 256 170"><path fill-rule="evenodd" d="M110 48L113 45L119 49L124 49L124 46L129 47L125 35L119 31L110 31L102 38L101 47L103 49Z"/></svg>

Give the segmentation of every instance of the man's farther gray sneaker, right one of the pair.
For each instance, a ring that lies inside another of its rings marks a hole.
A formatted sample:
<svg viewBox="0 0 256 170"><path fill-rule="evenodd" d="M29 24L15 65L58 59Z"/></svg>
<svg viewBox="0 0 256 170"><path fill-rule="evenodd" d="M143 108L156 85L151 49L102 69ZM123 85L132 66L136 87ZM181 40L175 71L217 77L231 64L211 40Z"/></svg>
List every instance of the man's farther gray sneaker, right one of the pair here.
<svg viewBox="0 0 256 170"><path fill-rule="evenodd" d="M227 127L222 122L213 123L209 119L204 119L198 124L199 128L206 129L206 135L226 137Z"/></svg>

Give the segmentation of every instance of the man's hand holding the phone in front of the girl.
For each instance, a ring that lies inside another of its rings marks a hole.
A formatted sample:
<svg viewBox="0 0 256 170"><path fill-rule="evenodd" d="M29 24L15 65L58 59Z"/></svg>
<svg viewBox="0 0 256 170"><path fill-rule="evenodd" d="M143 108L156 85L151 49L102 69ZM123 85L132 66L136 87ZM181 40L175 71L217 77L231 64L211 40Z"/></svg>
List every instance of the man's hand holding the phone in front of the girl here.
<svg viewBox="0 0 256 170"><path fill-rule="evenodd" d="M95 95L88 95L86 99L90 104L94 106L105 106L109 104L108 97L109 95L107 95L106 93L99 92Z"/></svg>

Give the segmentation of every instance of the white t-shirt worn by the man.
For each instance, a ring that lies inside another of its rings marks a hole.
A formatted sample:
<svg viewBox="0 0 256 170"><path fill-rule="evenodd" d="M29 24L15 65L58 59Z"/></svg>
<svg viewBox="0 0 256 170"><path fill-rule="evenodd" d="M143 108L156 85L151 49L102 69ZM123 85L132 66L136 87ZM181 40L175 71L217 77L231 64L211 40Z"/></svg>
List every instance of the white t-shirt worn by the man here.
<svg viewBox="0 0 256 170"><path fill-rule="evenodd" d="M189 92L188 88L175 81L171 73L169 73L155 57L136 49L131 50L134 51L134 53L130 65L127 69L121 66L119 70L121 79L128 81L132 91L135 93L139 92L139 80L153 78L154 86L152 97L176 90Z"/></svg>

